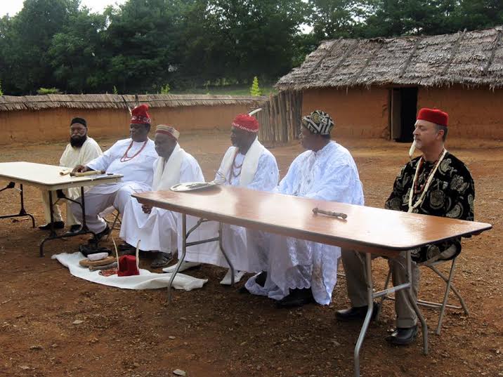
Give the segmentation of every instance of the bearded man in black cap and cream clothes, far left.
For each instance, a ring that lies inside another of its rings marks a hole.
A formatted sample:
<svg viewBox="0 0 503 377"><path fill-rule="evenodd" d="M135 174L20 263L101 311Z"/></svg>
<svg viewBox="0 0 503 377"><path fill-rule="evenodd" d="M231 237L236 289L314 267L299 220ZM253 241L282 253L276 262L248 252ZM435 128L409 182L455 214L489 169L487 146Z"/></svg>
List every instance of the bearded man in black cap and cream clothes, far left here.
<svg viewBox="0 0 503 377"><path fill-rule="evenodd" d="M101 156L101 148L93 138L87 134L87 122L84 118L74 118L70 121L70 143L67 144L65 152L61 155L60 166L65 168L73 168L77 165L87 164L89 161ZM63 190L65 197L77 199L80 196L79 188L70 188ZM53 196L53 203L57 201L54 192L50 192ZM51 211L49 209L49 194L43 192L42 204L44 205L44 214L46 216L46 225L39 226L41 230L51 229ZM65 223L61 217L61 211L58 204L53 204L54 229L63 229ZM77 232L80 229L80 223L73 216L70 205L66 202L66 223L70 225L70 232Z"/></svg>

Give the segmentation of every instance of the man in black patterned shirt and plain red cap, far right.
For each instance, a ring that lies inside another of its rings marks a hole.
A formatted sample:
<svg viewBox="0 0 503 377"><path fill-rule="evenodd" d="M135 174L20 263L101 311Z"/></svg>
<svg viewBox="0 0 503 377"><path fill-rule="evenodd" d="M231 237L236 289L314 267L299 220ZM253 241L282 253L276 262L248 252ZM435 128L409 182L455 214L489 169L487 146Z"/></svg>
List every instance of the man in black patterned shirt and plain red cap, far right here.
<svg viewBox="0 0 503 377"><path fill-rule="evenodd" d="M473 220L473 179L466 166L445 150L448 133L448 114L436 109L419 110L414 129L414 147L422 156L403 166L384 205L394 211ZM422 246L412 251L412 299L417 300L419 268L422 263L455 258L461 251L461 239ZM405 252L388 260L393 285L407 283ZM361 320L367 314L367 286L364 266L354 251L343 251L348 296L351 308L339 310L341 320ZM396 345L407 345L417 336L417 316L406 299L405 291L398 291L395 300L396 330L386 340Z"/></svg>

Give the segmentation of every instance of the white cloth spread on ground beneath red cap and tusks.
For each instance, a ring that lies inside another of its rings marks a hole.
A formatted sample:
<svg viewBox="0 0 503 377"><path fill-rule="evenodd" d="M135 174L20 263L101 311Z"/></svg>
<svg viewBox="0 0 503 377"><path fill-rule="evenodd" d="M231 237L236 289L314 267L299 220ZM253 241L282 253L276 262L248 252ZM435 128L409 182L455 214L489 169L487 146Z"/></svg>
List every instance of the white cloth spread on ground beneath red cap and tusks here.
<svg viewBox="0 0 503 377"><path fill-rule="evenodd" d="M116 286L122 289L158 289L168 286L171 274L156 274L148 270L140 269L140 275L136 276L117 276L112 275L104 277L99 271L89 271L89 268L79 265L79 261L86 257L81 253L60 253L51 257L58 260L59 263L68 267L70 274L80 279L88 280L89 282L103 284L107 286ZM202 288L208 279L197 279L188 275L177 274L173 280L174 289L184 289L191 291L192 289Z"/></svg>

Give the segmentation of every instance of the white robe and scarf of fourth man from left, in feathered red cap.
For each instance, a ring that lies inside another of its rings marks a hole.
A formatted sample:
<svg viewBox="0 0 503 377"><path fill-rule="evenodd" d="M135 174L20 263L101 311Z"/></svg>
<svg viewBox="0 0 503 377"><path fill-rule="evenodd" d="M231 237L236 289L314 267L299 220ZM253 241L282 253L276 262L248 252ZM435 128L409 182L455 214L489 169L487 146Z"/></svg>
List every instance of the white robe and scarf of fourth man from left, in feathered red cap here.
<svg viewBox="0 0 503 377"><path fill-rule="evenodd" d="M247 187L253 190L270 191L277 185L279 171L276 159L266 147L263 147L259 140L255 140L246 155L238 153L235 164L242 168L235 169L234 175L230 174L236 147L230 147L223 157L220 168L215 179L226 178L224 185ZM211 238L218 236L218 223L203 223L200 226L200 234L197 237ZM236 270L247 272L258 272L264 267L255 256L256 253L248 250L248 246L254 247L255 242L250 243L249 238L260 237L258 232L248 232L244 227L223 224L222 230L223 249L230 258ZM178 250L181 251L181 237L178 239ZM185 260L188 262L207 263L221 267L229 267L226 258L223 256L218 242L189 246Z"/></svg>

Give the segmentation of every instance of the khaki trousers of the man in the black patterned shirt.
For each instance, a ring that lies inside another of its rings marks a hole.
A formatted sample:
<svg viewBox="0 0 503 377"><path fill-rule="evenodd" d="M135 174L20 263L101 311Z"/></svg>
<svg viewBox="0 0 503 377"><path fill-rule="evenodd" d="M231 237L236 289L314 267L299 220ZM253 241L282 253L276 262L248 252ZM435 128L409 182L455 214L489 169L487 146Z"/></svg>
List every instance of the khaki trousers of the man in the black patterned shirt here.
<svg viewBox="0 0 503 377"><path fill-rule="evenodd" d="M355 251L342 250L342 263L346 272L346 282L348 286L348 297L352 307L367 305L367 284L365 282L365 255ZM397 258L389 258L388 265L391 270L393 285L407 283L406 280L406 252L401 252ZM419 287L419 267L412 262L412 299L417 300L417 289ZM417 315L414 308L407 300L405 290L395 293L395 312L397 327L412 327L417 323Z"/></svg>

